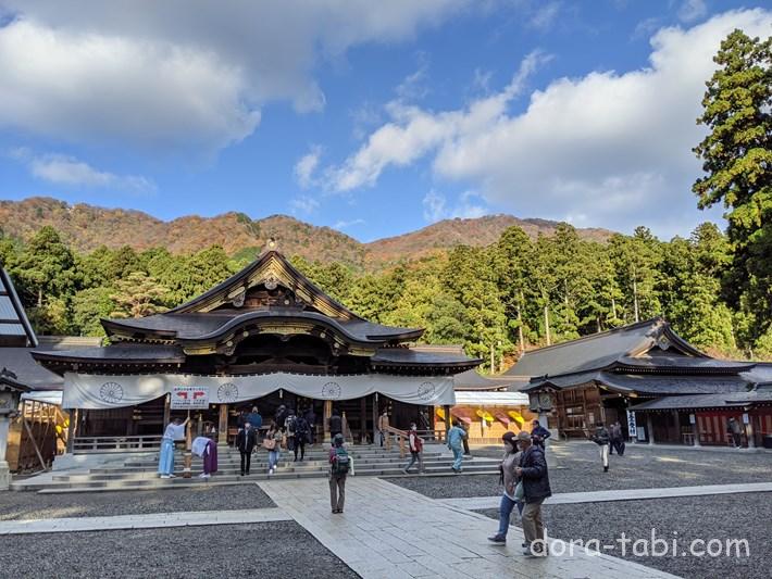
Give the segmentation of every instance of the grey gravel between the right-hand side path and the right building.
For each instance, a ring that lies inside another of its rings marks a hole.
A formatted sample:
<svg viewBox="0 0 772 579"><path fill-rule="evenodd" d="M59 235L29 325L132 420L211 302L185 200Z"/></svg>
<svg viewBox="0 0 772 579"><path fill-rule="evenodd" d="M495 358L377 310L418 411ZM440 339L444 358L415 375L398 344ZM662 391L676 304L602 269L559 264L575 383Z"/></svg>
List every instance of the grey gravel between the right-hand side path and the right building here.
<svg viewBox="0 0 772 579"><path fill-rule="evenodd" d="M555 444L557 467L550 468L552 492L587 492L617 489L647 489L772 482L772 454L729 453L650 449L627 444L624 456L610 456L603 473L597 445ZM475 456L500 457L497 448L473 449ZM501 493L497 475L473 477L391 478L389 482L436 499L490 496Z"/></svg>

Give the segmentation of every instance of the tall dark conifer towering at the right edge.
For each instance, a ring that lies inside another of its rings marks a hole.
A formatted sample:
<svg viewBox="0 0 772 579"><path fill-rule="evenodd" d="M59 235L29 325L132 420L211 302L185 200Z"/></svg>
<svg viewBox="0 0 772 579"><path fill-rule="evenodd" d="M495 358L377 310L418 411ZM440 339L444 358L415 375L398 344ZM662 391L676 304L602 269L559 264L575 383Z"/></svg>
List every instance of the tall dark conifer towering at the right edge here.
<svg viewBox="0 0 772 579"><path fill-rule="evenodd" d="M750 339L772 320L772 37L734 30L713 61L703 112L709 133L694 149L707 175L693 186L700 207L723 202L733 264L725 288L745 304Z"/></svg>

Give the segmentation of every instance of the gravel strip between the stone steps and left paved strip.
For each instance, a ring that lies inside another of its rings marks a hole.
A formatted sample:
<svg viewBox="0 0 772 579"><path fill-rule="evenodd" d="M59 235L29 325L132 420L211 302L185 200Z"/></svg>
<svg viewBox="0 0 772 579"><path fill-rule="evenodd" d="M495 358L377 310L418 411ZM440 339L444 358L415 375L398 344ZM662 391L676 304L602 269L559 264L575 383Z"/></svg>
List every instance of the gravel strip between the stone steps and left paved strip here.
<svg viewBox="0 0 772 579"><path fill-rule="evenodd" d="M276 506L274 502L257 484L64 494L3 492L0 498L0 520L144 515L274 506Z"/></svg>

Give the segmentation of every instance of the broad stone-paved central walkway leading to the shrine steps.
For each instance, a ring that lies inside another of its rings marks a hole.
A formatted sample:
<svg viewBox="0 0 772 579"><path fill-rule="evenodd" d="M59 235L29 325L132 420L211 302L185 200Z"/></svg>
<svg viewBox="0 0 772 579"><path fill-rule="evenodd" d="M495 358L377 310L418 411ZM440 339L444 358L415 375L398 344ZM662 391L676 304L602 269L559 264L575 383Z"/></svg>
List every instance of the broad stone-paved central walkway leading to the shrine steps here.
<svg viewBox="0 0 772 579"><path fill-rule="evenodd" d="M506 546L487 537L497 521L374 478L349 478L346 512L333 515L320 480L261 481L271 499L364 579L434 577L653 578L674 577L605 554L553 553L526 558L523 536L510 528ZM562 550L560 546L562 545Z"/></svg>

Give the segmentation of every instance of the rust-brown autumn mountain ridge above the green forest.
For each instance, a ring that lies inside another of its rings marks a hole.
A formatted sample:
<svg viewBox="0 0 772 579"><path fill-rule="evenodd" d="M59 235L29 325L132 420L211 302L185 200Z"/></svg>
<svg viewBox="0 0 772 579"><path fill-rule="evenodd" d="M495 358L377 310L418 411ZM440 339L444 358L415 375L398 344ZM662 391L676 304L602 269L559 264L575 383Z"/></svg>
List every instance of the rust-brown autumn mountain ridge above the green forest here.
<svg viewBox="0 0 772 579"><path fill-rule="evenodd" d="M361 242L332 227L283 214L253 219L246 213L229 211L213 217L191 214L163 221L139 210L69 204L50 197L0 201L0 227L4 235L27 240L43 225L55 227L82 252L104 244L111 249L129 246L137 251L165 247L172 253L191 253L220 244L229 255L251 259L265 247L267 239L275 238L288 255L378 269L403 259L447 251L459 243L487 246L513 225L535 239L539 234L551 235L558 222L499 213L444 219L399 236ZM606 241L613 234L601 228L577 231L583 239L595 241Z"/></svg>

